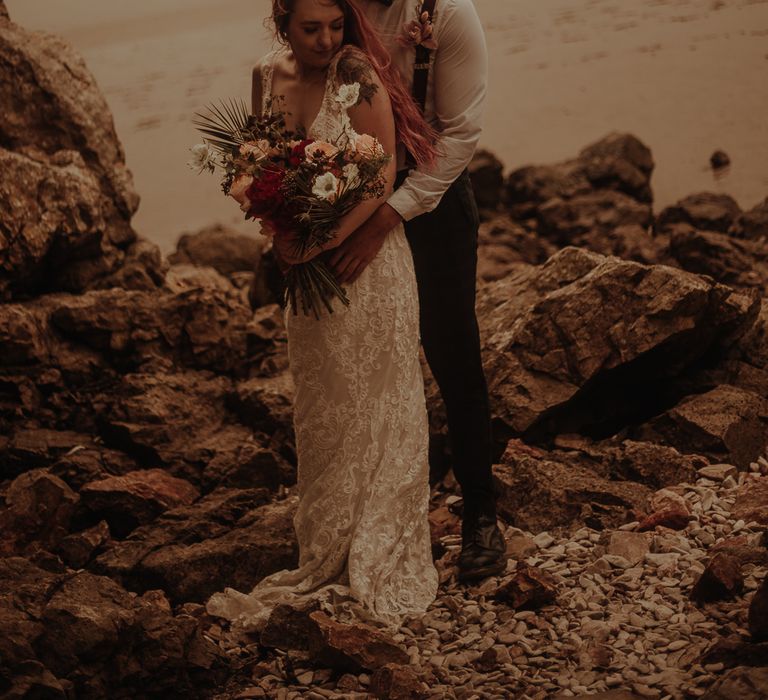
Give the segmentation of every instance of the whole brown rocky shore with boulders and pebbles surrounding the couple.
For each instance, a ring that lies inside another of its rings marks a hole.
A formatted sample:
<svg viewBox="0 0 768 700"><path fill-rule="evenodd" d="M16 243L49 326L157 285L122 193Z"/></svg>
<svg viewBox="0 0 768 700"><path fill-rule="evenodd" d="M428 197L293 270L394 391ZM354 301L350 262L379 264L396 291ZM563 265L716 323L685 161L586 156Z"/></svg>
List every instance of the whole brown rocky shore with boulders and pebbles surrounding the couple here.
<svg viewBox="0 0 768 700"><path fill-rule="evenodd" d="M282 609L243 638L203 602L298 554L271 253L138 237L86 66L1 0L0 71L3 697L768 694L768 199L654 217L627 134L511 173L478 154L508 571L456 583L425 366L434 605L394 637Z"/></svg>

